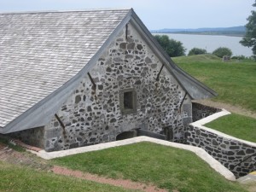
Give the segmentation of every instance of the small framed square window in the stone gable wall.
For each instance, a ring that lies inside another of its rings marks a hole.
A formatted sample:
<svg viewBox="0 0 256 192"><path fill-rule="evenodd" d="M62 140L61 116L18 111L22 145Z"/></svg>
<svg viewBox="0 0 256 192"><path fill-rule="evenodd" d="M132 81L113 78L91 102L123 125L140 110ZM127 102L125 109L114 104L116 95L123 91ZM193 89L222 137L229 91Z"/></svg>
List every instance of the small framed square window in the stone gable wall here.
<svg viewBox="0 0 256 192"><path fill-rule="evenodd" d="M123 114L136 113L137 94L134 89L125 89L120 92L120 110Z"/></svg>

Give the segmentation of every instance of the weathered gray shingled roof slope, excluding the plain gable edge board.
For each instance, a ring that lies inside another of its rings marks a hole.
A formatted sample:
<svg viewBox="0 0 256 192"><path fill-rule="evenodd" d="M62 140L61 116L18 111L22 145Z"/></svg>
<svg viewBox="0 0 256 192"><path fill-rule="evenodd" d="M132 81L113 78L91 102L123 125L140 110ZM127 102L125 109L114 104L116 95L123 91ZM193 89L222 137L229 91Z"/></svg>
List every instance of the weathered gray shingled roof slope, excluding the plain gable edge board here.
<svg viewBox="0 0 256 192"><path fill-rule="evenodd" d="M0 127L73 78L129 11L0 14Z"/></svg>

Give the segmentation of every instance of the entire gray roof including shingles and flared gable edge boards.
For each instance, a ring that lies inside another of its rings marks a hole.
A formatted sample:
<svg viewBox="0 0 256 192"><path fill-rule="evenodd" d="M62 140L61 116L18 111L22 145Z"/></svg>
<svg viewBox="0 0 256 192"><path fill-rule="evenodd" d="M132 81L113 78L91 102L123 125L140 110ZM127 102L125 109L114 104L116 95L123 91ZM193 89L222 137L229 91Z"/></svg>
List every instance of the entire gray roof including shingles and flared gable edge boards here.
<svg viewBox="0 0 256 192"><path fill-rule="evenodd" d="M46 125L128 22L192 99L216 95L174 64L133 9L0 14L0 133Z"/></svg>

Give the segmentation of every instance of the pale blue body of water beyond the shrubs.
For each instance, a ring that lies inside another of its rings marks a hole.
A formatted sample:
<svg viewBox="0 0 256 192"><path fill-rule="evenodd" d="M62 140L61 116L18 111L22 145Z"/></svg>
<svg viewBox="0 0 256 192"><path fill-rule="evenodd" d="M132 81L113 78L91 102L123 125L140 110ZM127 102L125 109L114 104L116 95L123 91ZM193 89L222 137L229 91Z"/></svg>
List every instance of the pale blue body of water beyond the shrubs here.
<svg viewBox="0 0 256 192"><path fill-rule="evenodd" d="M186 48L186 55L189 50L193 48L207 49L208 53L212 53L213 50L218 47L227 47L232 50L233 55L253 55L251 48L247 48L239 44L241 37L230 36L213 36L213 35L190 35L190 34L171 34L171 33L158 33L159 35L167 35L177 41L183 43ZM154 34L155 35L155 34Z"/></svg>

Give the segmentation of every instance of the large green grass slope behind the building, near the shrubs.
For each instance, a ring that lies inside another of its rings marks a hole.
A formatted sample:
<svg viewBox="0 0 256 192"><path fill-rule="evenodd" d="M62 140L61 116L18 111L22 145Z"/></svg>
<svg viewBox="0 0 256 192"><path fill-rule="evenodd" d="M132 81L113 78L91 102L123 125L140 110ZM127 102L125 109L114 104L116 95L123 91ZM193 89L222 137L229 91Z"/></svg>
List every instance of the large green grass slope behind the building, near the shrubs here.
<svg viewBox="0 0 256 192"><path fill-rule="evenodd" d="M223 62L214 55L172 58L184 71L218 93L213 101L256 112L256 61Z"/></svg>

